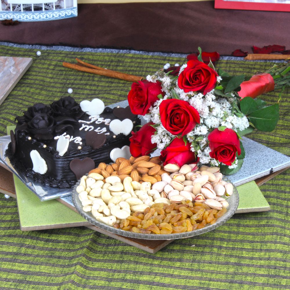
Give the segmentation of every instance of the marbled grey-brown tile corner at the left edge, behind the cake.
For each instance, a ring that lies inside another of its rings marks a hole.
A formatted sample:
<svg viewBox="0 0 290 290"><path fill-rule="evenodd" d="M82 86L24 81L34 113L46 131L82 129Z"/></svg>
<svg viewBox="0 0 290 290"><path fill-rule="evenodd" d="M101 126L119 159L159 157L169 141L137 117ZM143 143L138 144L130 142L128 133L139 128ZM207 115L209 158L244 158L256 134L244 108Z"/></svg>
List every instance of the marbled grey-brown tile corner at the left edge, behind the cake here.
<svg viewBox="0 0 290 290"><path fill-rule="evenodd" d="M29 57L0 56L0 105L32 64Z"/></svg>

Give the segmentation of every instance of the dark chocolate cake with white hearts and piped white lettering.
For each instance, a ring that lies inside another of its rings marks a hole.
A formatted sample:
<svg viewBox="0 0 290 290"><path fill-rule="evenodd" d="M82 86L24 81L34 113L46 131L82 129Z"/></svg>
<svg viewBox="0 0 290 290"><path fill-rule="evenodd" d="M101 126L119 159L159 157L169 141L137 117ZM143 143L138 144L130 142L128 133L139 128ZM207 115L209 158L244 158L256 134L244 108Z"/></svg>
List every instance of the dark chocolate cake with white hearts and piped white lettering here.
<svg viewBox="0 0 290 290"><path fill-rule="evenodd" d="M26 176L52 187L68 188L100 162L129 156L129 137L137 115L129 107L104 107L99 99L76 103L61 98L38 103L17 117L8 154ZM129 156L130 157L130 156Z"/></svg>

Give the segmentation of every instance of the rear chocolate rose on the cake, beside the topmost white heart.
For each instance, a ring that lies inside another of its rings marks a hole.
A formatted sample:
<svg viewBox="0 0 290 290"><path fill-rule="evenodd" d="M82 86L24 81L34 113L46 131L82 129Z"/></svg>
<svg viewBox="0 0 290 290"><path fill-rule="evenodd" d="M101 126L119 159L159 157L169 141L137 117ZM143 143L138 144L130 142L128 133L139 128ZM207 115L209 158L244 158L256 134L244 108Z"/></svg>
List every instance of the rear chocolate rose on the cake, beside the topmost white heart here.
<svg viewBox="0 0 290 290"><path fill-rule="evenodd" d="M69 116L79 119L85 113L75 100L68 96L53 102L50 107L56 116Z"/></svg>

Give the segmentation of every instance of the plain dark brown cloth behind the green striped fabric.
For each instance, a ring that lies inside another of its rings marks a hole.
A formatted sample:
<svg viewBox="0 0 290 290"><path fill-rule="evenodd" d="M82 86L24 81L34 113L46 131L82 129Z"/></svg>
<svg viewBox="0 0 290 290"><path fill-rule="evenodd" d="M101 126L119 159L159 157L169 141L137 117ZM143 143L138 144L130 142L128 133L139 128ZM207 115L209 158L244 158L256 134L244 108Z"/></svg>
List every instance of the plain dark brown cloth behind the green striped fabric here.
<svg viewBox="0 0 290 290"><path fill-rule="evenodd" d="M214 9L214 1L79 4L78 17L0 25L0 41L21 44L218 51L279 44L290 49L289 12Z"/></svg>

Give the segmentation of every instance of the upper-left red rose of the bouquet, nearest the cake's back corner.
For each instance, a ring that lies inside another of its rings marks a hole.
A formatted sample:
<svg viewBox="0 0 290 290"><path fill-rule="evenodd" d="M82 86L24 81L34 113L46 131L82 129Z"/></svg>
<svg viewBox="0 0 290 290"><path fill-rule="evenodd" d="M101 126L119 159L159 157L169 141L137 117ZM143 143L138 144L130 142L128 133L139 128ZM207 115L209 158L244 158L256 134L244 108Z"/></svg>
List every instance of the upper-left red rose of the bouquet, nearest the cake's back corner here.
<svg viewBox="0 0 290 290"><path fill-rule="evenodd" d="M158 100L157 96L160 94L164 95L159 81L152 83L144 80L133 83L128 93L128 103L132 113L144 116L148 113L150 106Z"/></svg>

